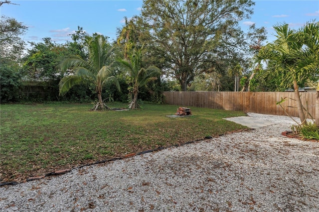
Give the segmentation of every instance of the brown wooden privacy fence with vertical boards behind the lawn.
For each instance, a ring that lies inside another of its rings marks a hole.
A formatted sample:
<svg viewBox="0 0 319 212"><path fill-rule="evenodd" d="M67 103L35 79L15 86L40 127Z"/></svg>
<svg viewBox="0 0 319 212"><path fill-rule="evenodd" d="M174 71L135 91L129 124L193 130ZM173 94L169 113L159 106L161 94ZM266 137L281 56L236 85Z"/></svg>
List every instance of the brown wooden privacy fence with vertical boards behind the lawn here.
<svg viewBox="0 0 319 212"><path fill-rule="evenodd" d="M316 93L302 92L304 106L308 105L310 114L315 118ZM281 98L282 104L291 116L298 117L294 92L164 92L165 103L176 106L197 106L225 110L241 110L273 115L286 115L276 105ZM307 104L306 104L307 103Z"/></svg>

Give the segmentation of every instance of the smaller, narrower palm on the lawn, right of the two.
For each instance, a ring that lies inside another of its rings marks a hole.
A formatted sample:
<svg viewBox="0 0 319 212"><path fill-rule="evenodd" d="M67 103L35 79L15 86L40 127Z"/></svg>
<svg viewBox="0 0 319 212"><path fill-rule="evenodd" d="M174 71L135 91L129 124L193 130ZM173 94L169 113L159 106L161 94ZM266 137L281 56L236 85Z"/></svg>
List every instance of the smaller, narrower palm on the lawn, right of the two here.
<svg viewBox="0 0 319 212"><path fill-rule="evenodd" d="M142 67L142 55L140 51L133 51L129 60L117 60L117 64L129 75L129 90L131 95L131 103L129 108L135 109L139 107L137 104L139 88L146 86L148 82L157 80L156 75L160 75L160 69L156 66L150 66L145 69Z"/></svg>

